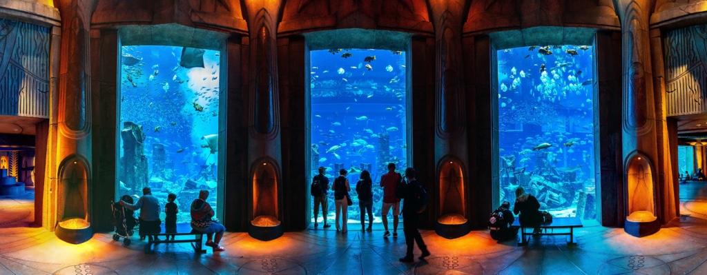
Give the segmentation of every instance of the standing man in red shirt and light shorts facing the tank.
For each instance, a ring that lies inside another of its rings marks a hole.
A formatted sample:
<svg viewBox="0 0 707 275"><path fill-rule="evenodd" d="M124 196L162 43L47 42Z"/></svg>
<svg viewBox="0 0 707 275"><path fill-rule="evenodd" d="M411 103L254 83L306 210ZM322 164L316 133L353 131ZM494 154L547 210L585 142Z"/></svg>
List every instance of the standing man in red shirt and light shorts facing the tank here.
<svg viewBox="0 0 707 275"><path fill-rule="evenodd" d="M388 164L388 173L380 177L380 187L383 188L383 207L380 218L383 220L383 238L390 236L388 231L388 212L393 209L393 238L397 238L398 216L400 216L400 199L397 188L402 184L402 175L395 172L395 164Z"/></svg>

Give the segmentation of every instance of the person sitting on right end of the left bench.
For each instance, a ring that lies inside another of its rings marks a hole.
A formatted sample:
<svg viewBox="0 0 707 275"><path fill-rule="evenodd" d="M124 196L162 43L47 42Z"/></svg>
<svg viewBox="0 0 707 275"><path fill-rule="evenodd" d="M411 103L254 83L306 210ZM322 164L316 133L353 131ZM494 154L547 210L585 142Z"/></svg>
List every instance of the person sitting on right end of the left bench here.
<svg viewBox="0 0 707 275"><path fill-rule="evenodd" d="M192 228L206 234L206 245L214 247L214 252L223 251L221 237L226 228L218 221L214 220L214 209L211 208L206 198L209 197L209 190L199 191L199 198L192 202ZM215 235L215 236L214 236Z"/></svg>

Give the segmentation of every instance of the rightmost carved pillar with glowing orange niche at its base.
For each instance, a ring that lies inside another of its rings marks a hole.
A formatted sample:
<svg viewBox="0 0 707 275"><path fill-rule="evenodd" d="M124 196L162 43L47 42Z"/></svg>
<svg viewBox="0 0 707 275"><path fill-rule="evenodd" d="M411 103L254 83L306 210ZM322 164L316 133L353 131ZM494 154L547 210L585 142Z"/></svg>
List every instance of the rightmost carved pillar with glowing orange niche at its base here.
<svg viewBox="0 0 707 275"><path fill-rule="evenodd" d="M648 0L615 0L621 18L622 39L622 155L624 158L624 229L634 236L654 233L659 194L656 185L660 168L658 120L655 116L653 71L648 35ZM650 224L645 231L643 225ZM658 223L659 225L659 223Z"/></svg>

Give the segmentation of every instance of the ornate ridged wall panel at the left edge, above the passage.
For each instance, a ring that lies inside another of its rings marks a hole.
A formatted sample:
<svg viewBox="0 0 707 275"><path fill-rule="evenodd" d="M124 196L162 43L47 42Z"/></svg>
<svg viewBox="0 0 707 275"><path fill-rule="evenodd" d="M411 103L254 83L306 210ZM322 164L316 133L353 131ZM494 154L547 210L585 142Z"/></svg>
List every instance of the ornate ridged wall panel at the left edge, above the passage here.
<svg viewBox="0 0 707 275"><path fill-rule="evenodd" d="M49 117L49 28L0 18L0 115Z"/></svg>

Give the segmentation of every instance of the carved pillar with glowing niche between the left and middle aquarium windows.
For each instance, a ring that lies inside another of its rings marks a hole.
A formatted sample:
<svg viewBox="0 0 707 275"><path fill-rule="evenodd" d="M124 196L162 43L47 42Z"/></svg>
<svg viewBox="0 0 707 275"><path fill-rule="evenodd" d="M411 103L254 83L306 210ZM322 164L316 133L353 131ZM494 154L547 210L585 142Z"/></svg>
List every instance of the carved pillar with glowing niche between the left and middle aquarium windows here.
<svg viewBox="0 0 707 275"><path fill-rule="evenodd" d="M249 63L248 68L248 93L250 98L250 114L248 120L248 163L249 163L249 181L251 192L254 194L250 197L250 213L249 220L255 221L257 218L256 210L262 210L262 207L276 207L281 203L274 205L258 205L267 201L257 200L261 194L255 194L262 188L257 188L257 173L261 170L270 171L269 178L278 185L281 183L281 138L280 138L280 102L278 91L278 75L277 75L277 14L279 12L280 1L246 1L245 5L248 14L248 29L250 30L248 42L249 45ZM274 166L269 169L262 169L259 166ZM276 190L281 193L282 188L276 187L267 190ZM282 194L274 194L276 200L281 200ZM268 216L268 219L276 219L284 221L281 209L274 209L272 213L276 216ZM279 225L279 223L278 223ZM251 222L251 227L257 226ZM257 229L257 228L256 228ZM259 228L256 231L271 231L273 228ZM278 230L276 230L278 231ZM262 236L249 230L251 236L258 238ZM269 232L269 236L265 238L276 238L281 235L279 232Z"/></svg>

